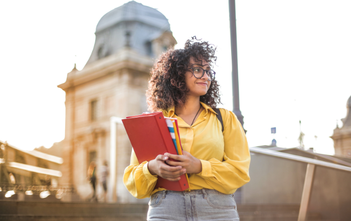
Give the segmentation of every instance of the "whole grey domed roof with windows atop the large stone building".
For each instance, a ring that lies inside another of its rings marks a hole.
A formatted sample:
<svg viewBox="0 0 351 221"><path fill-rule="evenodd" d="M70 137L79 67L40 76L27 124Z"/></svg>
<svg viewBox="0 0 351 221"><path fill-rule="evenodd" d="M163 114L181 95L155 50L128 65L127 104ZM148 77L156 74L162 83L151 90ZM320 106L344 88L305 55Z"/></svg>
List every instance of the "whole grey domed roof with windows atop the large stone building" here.
<svg viewBox="0 0 351 221"><path fill-rule="evenodd" d="M95 36L87 64L126 48L139 55L156 57L162 51L160 48L177 43L162 13L134 1L105 14L96 26Z"/></svg>

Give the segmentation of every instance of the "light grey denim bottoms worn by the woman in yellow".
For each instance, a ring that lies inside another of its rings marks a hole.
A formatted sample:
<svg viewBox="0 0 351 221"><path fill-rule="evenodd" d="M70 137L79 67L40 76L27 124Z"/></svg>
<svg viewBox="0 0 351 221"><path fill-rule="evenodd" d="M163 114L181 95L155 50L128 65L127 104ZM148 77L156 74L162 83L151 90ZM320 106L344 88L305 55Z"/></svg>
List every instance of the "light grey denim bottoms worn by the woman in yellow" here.
<svg viewBox="0 0 351 221"><path fill-rule="evenodd" d="M214 189L158 191L151 195L147 220L239 221L234 194Z"/></svg>

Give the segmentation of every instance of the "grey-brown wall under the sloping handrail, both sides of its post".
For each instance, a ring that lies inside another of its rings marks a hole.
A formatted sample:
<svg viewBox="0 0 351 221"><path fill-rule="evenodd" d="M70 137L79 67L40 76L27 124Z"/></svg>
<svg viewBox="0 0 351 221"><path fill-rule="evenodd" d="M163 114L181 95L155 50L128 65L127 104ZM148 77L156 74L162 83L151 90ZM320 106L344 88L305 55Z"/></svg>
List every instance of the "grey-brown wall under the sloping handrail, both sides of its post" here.
<svg viewBox="0 0 351 221"><path fill-rule="evenodd" d="M251 153L251 181L241 189L243 204L299 204L307 164ZM316 166L309 213L322 220L351 217L351 172Z"/></svg>

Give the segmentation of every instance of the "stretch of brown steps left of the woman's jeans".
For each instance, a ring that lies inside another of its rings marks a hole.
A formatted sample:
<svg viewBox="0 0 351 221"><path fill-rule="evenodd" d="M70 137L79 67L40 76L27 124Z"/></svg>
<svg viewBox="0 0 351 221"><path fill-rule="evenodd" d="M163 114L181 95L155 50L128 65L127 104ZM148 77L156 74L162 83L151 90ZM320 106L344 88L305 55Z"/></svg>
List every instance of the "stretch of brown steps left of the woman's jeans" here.
<svg viewBox="0 0 351 221"><path fill-rule="evenodd" d="M144 221L147 209L147 204L0 200L0 220Z"/></svg>

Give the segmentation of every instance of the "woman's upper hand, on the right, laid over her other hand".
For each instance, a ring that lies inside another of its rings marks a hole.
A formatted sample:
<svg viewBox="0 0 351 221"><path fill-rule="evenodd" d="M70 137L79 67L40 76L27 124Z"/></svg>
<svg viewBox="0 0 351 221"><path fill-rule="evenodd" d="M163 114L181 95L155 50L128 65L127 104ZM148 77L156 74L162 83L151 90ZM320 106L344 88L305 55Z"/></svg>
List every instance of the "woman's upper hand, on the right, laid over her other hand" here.
<svg viewBox="0 0 351 221"><path fill-rule="evenodd" d="M201 161L193 157L189 152L183 151L183 155L174 155L165 153L165 156L172 158L174 160L179 160L180 162L174 162L171 160L166 160L166 163L171 166L182 166L187 170L187 173L200 173L202 171Z"/></svg>

